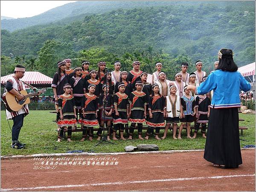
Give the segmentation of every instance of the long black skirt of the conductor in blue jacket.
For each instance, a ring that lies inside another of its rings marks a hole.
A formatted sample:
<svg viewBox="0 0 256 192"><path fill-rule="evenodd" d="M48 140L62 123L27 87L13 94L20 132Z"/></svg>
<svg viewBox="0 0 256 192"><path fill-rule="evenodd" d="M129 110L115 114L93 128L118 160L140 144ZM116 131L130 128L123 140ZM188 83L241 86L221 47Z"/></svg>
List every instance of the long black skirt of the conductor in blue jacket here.
<svg viewBox="0 0 256 192"><path fill-rule="evenodd" d="M230 168L242 164L237 108L211 109L204 159Z"/></svg>

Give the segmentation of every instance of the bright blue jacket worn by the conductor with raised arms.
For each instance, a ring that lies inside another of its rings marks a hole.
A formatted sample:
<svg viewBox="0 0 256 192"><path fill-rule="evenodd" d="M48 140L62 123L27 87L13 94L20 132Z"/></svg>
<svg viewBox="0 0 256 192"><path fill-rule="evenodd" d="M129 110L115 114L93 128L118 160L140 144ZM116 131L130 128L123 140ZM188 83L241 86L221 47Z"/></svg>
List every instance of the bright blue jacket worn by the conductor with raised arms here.
<svg viewBox="0 0 256 192"><path fill-rule="evenodd" d="M240 72L225 72L221 69L210 73L203 83L195 89L196 95L204 95L213 90L211 108L241 107L239 90L247 92L250 83Z"/></svg>

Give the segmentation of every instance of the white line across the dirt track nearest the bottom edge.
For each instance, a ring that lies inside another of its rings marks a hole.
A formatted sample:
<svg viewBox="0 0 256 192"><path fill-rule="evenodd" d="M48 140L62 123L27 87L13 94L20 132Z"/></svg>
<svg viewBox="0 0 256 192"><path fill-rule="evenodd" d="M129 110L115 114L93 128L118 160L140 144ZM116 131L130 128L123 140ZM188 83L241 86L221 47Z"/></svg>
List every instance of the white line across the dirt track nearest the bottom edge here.
<svg viewBox="0 0 256 192"><path fill-rule="evenodd" d="M156 183L167 181L188 181L188 180L204 180L204 179L221 179L221 178L237 178L237 177L253 177L252 175L224 175L224 176L212 176L212 177L194 177L194 178L169 178L169 179L157 179L157 180L145 180L145 181L122 181L113 183L92 183L92 184L78 184L78 185L60 185L60 186L38 186L38 187L22 187L12 189L1 189L1 191L21 191L21 190L37 190L37 189L60 189L60 188L72 188L72 187L87 187L87 186L106 186L106 185L124 185L132 183Z"/></svg>

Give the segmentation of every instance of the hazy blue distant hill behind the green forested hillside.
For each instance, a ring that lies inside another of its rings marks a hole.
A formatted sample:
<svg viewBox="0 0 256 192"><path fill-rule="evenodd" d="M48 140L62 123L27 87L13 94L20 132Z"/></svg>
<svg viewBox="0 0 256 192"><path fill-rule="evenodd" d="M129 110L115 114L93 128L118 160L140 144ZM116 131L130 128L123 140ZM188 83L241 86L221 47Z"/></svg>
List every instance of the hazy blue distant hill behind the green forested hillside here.
<svg viewBox="0 0 256 192"><path fill-rule="evenodd" d="M82 20L84 16L91 14L103 14L116 9L134 9L152 6L170 6L170 5L204 5L208 2L186 2L186 1L77 1L67 3L63 6L50 9L34 17L18 18L12 20L2 20L1 29L13 32L17 29L24 29L29 26L46 24L51 22L70 23L75 20ZM221 7L229 6L228 2L209 2ZM240 2L233 2L239 9Z"/></svg>

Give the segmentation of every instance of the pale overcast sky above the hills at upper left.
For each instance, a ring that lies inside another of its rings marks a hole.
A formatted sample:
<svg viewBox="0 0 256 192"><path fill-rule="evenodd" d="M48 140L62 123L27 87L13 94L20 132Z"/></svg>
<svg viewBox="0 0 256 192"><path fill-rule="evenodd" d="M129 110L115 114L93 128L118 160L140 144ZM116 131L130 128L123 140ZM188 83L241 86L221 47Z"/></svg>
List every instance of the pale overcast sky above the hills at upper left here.
<svg viewBox="0 0 256 192"><path fill-rule="evenodd" d="M35 15L44 13L49 9L62 6L67 3L76 2L66 1L66 0L33 0L33 1L12 1L12 0L1 0L1 16L23 18L23 17L33 17Z"/></svg>

